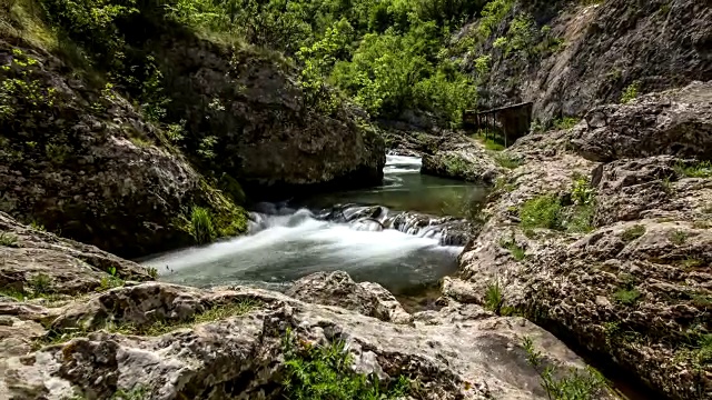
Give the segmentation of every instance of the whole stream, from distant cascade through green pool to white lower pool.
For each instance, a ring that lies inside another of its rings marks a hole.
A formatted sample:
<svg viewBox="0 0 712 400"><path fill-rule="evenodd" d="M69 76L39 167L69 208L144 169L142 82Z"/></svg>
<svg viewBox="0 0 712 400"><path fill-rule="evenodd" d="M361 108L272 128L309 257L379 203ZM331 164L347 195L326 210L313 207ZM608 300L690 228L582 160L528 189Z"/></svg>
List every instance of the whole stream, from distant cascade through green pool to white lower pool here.
<svg viewBox="0 0 712 400"><path fill-rule="evenodd" d="M383 187L258 204L248 236L142 263L157 268L161 280L197 287L251 284L279 290L307 274L335 270L356 281L382 283L396 294L427 286L457 268L463 243L448 233L457 221L404 212L462 216L484 191L421 176L419 168L417 158L388 156Z"/></svg>

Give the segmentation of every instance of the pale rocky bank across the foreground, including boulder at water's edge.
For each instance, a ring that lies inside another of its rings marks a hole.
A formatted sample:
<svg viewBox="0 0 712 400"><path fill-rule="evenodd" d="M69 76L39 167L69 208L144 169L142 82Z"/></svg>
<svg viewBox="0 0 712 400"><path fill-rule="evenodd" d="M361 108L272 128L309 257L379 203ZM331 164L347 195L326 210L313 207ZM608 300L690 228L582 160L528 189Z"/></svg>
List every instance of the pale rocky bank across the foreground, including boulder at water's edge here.
<svg viewBox="0 0 712 400"><path fill-rule="evenodd" d="M289 337L305 349L345 342L354 373L407 377L416 399L546 399L525 347L561 373L584 366L522 318L455 301L409 314L378 284L343 272L307 277L288 297L129 282L92 293L68 290L60 269L43 271L52 292L72 297L48 301L48 289L0 299L3 399L278 399Z"/></svg>

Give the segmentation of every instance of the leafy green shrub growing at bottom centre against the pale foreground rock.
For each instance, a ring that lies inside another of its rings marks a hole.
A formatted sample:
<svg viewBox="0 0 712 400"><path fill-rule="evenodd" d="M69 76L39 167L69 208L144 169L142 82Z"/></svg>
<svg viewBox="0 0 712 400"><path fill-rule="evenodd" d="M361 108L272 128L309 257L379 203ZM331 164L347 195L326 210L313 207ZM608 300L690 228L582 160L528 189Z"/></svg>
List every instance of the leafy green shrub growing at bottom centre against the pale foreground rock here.
<svg viewBox="0 0 712 400"><path fill-rule="evenodd" d="M300 342L288 331L283 340L285 399L372 400L403 399L411 392L409 381L399 377L380 382L376 374L352 369L353 358L343 341L329 346Z"/></svg>

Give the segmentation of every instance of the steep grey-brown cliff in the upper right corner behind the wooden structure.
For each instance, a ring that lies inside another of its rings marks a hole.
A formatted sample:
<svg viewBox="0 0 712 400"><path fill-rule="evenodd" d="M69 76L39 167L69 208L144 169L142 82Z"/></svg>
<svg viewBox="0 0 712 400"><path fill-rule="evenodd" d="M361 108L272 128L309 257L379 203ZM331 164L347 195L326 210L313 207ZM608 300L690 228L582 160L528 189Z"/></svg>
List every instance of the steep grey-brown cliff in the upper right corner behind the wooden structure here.
<svg viewBox="0 0 712 400"><path fill-rule="evenodd" d="M617 103L626 91L712 79L712 9L704 1L502 2L511 10L492 34L477 37L475 22L455 42L481 80L483 109L533 101L534 117L548 122ZM488 73L478 73L475 60L482 70L487 56Z"/></svg>

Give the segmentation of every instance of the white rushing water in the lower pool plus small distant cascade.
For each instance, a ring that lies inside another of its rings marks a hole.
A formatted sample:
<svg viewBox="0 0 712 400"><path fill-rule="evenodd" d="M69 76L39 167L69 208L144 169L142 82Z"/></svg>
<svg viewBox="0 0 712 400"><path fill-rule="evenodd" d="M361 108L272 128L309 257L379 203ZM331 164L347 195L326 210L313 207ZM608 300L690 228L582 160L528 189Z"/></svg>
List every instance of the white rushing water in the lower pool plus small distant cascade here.
<svg viewBox="0 0 712 400"><path fill-rule="evenodd" d="M419 159L388 156L385 172L397 178L418 170ZM317 271L344 270L355 280L398 292L452 273L462 251L439 246L437 237L319 220L307 209L273 206L263 211L251 214L249 236L161 254L144 264L157 268L161 280L191 286L271 287Z"/></svg>

